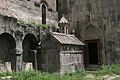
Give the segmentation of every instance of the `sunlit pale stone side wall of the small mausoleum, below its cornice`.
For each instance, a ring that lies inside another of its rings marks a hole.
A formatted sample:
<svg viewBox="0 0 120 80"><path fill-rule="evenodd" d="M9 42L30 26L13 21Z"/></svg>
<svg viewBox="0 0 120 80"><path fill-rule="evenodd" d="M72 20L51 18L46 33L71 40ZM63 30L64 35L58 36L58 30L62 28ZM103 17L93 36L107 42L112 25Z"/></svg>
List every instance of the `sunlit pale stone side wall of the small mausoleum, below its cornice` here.
<svg viewBox="0 0 120 80"><path fill-rule="evenodd" d="M60 53L60 73L70 73L84 68L83 54Z"/></svg>

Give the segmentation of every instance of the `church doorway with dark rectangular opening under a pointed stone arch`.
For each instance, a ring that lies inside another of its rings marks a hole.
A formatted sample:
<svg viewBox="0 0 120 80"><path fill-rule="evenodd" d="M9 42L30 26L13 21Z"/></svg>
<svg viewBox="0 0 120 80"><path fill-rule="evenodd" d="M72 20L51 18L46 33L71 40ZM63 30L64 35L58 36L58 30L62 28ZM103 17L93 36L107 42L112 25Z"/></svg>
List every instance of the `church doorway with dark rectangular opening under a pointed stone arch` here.
<svg viewBox="0 0 120 80"><path fill-rule="evenodd" d="M85 53L84 63L86 68L95 70L101 65L101 33L97 27L92 24L86 26L85 29Z"/></svg>

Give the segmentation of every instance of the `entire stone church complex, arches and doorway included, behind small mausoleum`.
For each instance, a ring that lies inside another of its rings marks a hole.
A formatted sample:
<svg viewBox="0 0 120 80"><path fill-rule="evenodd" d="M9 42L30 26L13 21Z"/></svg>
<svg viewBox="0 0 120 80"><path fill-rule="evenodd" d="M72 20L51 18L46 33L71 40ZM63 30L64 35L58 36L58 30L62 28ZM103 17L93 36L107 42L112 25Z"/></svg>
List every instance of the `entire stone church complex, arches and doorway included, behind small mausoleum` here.
<svg viewBox="0 0 120 80"><path fill-rule="evenodd" d="M11 62L5 64L12 70L23 69L22 62L41 68L41 39L47 32L59 32L64 15L66 33L85 43L85 66L118 64L119 7L119 0L0 0L0 63Z"/></svg>

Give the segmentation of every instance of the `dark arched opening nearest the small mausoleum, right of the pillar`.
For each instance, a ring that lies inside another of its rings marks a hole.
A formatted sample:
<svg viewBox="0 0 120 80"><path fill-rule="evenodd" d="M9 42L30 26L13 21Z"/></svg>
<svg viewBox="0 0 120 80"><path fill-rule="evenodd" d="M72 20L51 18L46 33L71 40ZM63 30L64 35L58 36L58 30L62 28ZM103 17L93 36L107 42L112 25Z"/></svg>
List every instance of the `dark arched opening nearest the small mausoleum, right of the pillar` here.
<svg viewBox="0 0 120 80"><path fill-rule="evenodd" d="M32 63L36 68L36 54L34 50L37 48L37 38L33 34L27 34L22 43L23 46L23 62Z"/></svg>

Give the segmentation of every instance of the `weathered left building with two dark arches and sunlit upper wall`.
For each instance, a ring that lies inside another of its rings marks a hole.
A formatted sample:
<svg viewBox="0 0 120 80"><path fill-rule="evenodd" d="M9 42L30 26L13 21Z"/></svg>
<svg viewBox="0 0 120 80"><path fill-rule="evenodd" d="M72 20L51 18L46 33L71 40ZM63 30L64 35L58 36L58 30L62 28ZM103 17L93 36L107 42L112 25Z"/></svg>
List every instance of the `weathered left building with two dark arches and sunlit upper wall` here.
<svg viewBox="0 0 120 80"><path fill-rule="evenodd" d="M33 25L42 23L42 4L46 24L57 26L56 0L0 0L0 63L11 62L10 71L23 69L23 62L31 62L33 68L40 62L40 53L31 50L40 49L38 43L47 32Z"/></svg>

